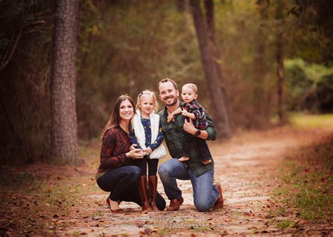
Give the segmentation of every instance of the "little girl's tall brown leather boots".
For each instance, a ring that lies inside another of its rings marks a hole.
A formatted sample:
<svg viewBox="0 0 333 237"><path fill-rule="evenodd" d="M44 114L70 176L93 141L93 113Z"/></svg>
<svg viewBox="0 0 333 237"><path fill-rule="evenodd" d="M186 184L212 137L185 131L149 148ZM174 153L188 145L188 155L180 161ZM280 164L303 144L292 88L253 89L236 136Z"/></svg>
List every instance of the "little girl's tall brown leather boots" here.
<svg viewBox="0 0 333 237"><path fill-rule="evenodd" d="M147 176L143 175L140 177L138 182L139 194L142 202L142 210L158 210L156 205L156 194L157 194L157 176L148 177L149 184L149 200L148 200L148 187L147 187Z"/></svg>

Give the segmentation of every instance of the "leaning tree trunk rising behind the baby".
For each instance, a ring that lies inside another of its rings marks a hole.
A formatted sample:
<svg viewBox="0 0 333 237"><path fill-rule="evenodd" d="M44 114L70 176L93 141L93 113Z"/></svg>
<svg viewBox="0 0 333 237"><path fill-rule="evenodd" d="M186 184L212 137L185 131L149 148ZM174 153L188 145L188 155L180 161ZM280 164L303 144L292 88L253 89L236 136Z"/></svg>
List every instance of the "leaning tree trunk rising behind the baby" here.
<svg viewBox="0 0 333 237"><path fill-rule="evenodd" d="M192 17L197 32L197 40L199 41L204 74L207 79L207 86L211 94L213 107L216 108L215 123L218 129L222 131L223 137L231 137L233 135L233 130L230 121L230 114L228 112L228 100L226 98L225 91L223 92L221 65L219 65L217 61L219 58L214 57L218 55L217 53L214 53L214 46L216 46L216 44L214 43L214 28L211 28L211 34L209 34L208 27L208 24L214 26L214 23L211 23L214 18L212 18L210 12L210 15L207 18L208 23L204 21L200 6L200 0L191 0L190 4L192 6ZM213 5L211 5L211 7L209 7L208 9L210 11L213 11L214 9L212 7Z"/></svg>

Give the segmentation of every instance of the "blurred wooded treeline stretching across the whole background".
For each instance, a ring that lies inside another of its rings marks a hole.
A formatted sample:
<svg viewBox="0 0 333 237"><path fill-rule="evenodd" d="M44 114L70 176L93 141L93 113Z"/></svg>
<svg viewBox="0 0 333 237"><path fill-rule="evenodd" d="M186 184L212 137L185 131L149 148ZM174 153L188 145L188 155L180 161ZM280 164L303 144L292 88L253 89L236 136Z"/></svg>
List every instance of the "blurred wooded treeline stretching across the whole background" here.
<svg viewBox="0 0 333 237"><path fill-rule="evenodd" d="M47 160L56 4L5 0L0 9L1 163ZM332 13L329 0L79 1L79 140L100 135L116 97L156 91L164 78L196 83L216 124L225 95L233 130L283 123L287 111L332 112Z"/></svg>

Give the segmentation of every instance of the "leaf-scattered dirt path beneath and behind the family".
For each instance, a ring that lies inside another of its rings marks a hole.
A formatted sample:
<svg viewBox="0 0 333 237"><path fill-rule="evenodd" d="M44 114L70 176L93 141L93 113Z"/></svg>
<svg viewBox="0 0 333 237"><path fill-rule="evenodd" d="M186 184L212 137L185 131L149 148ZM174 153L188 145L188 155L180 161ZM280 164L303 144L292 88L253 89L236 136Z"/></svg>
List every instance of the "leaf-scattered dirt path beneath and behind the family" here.
<svg viewBox="0 0 333 237"><path fill-rule="evenodd" d="M105 205L107 195L96 188L95 193L85 196L79 210L70 219L67 227L56 229L58 235L86 234L89 236L112 234L283 234L318 233L322 229L333 233L331 226L306 226L278 229L273 220L289 217L271 217L274 203L272 191L275 187L278 165L282 159L299 147L311 144L332 130L292 130L277 128L268 132L237 135L227 142L211 142L214 155L215 179L221 182L224 208L211 212L197 212L192 201L190 182L178 182L183 190L185 202L179 212L141 213L133 203L122 203L124 214L112 214ZM162 184L159 192L165 197ZM169 204L169 201L168 201ZM296 217L293 217L294 219ZM58 220L58 222L61 220ZM311 232L308 232L310 231Z"/></svg>

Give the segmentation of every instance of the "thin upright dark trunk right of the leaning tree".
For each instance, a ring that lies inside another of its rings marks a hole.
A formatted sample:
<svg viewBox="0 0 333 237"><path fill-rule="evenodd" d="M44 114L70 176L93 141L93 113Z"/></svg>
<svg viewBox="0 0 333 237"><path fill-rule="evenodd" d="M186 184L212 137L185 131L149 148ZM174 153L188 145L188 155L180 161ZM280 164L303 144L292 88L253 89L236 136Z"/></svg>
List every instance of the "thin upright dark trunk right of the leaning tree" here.
<svg viewBox="0 0 333 237"><path fill-rule="evenodd" d="M283 60L285 59L285 36L283 31L283 3L277 2L275 19L278 20L278 29L276 36L276 60L277 60L277 76L278 76L278 115L280 123L287 123L286 106L285 106L285 67Z"/></svg>

